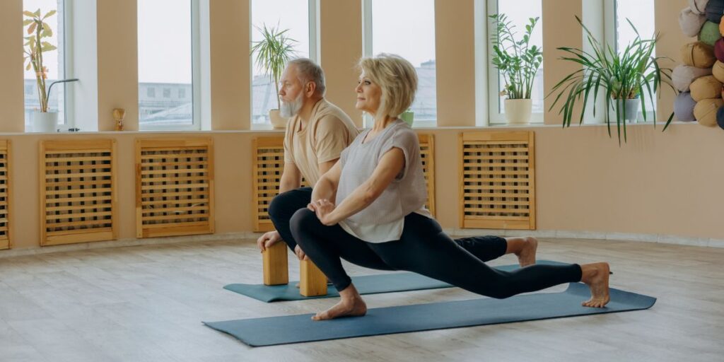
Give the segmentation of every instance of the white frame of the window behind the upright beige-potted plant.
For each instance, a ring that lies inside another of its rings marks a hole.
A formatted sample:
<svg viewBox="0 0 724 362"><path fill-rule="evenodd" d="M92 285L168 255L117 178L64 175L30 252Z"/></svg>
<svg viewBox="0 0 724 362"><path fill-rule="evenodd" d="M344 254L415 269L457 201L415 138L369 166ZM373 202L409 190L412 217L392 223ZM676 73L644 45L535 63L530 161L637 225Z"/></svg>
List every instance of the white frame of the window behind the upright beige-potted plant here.
<svg viewBox="0 0 724 362"><path fill-rule="evenodd" d="M487 114L487 122L484 122L488 126L495 126L495 125L508 125L508 120L505 118L505 113L501 111L500 104L502 103L500 97L500 72L494 67L493 65L493 42L492 37L490 35L494 34L497 31L497 28L495 28L492 24L492 21L490 21L489 15L491 14L497 14L498 13L498 1L500 0L488 0L487 1L487 13L484 17L485 26L484 28L487 30L486 35L486 43L487 43L487 108L488 108L488 114ZM543 0L540 0L543 1ZM544 4L542 4L544 6ZM544 21L542 14L541 14L541 21ZM542 26L542 24L539 24L538 26ZM542 31L542 30L541 30ZM543 49L545 51L545 48ZM543 62L543 66L545 64L545 61ZM544 70L544 67L541 68ZM544 88L545 90L545 85ZM545 94L543 95L545 98ZM531 114L531 121L528 123L529 125L542 125L544 124L544 114L545 114L545 107L542 112L533 112Z"/></svg>

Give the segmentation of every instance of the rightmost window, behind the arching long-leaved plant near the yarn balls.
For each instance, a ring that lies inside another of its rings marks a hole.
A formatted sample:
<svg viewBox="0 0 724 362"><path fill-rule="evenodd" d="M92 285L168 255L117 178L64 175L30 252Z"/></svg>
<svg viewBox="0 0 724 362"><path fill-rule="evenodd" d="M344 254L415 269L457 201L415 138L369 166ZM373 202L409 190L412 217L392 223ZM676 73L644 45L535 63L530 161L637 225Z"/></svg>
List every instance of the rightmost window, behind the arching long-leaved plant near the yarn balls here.
<svg viewBox="0 0 724 362"><path fill-rule="evenodd" d="M633 26L636 27L636 30L639 31L642 39L651 39L654 37L654 32L656 31L654 0L607 0L605 7L607 17L607 21L605 21L606 40L618 54L622 54L623 51L626 50L626 46L633 43L636 39L636 33L633 28L631 28L628 20L630 20ZM652 56L656 56L655 49ZM646 93L642 96L644 96L644 104L647 109L647 121L653 122L653 109L656 106L656 95L649 97L649 94ZM639 122L643 122L643 120L643 109L639 108Z"/></svg>

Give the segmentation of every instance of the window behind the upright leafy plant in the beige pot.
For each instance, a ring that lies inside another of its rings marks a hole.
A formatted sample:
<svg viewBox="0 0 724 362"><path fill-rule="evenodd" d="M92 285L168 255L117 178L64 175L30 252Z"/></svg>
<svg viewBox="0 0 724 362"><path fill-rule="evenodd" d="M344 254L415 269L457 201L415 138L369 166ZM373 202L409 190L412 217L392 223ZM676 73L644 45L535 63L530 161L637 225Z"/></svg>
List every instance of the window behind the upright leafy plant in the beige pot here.
<svg viewBox="0 0 724 362"><path fill-rule="evenodd" d="M542 17L542 0L518 0L518 1L504 1L504 0L492 0L488 1L488 14L505 14L508 16L508 20L511 25L515 26L513 30L517 33L516 40L521 40L525 27L529 23L531 17L539 17L536 28L531 34L531 45L543 46L543 17ZM488 26L488 34L494 34L497 30L493 25L493 22L486 17L485 21ZM505 97L500 96L500 91L505 86L505 80L500 75L500 72L493 67L492 64L492 41L489 41L488 46L488 67L489 67L489 89L488 89L488 102L489 102L489 120L490 124L505 123ZM543 49L546 51L546 49ZM543 122L543 98L545 96L543 88L543 67L541 64L536 77L533 81L533 89L531 92L531 103L533 104L533 114L531 115L532 122Z"/></svg>

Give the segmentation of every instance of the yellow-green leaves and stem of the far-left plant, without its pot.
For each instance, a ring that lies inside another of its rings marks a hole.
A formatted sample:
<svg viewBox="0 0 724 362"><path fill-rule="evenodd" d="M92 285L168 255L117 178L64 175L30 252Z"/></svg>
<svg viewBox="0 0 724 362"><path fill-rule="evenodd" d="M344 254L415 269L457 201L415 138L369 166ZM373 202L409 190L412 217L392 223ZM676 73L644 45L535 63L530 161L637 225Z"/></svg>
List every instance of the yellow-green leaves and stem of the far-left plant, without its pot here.
<svg viewBox="0 0 724 362"><path fill-rule="evenodd" d="M43 52L54 51L56 46L49 43L46 39L53 36L53 30L46 22L46 19L56 14L55 10L51 10L41 16L41 9L35 12L25 11L25 20L22 22L23 27L28 27L25 31L28 36L25 37L25 70L31 68L35 72L35 81L38 88L38 97L41 103L41 112L48 111L48 100L50 89L46 88L46 79L48 79L48 68L43 65ZM52 86L52 84L51 84ZM46 90L47 89L47 90Z"/></svg>

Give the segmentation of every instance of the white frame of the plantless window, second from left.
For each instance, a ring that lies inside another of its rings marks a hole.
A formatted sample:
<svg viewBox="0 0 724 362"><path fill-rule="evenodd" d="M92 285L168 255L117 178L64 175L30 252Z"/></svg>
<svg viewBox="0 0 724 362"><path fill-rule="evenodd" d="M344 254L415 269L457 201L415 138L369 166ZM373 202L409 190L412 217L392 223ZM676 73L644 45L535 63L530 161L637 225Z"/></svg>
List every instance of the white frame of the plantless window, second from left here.
<svg viewBox="0 0 724 362"><path fill-rule="evenodd" d="M138 0L134 0L138 1ZM201 0L190 0L191 7L191 107L190 125L141 125L140 94L138 99L138 130L140 131L200 131L201 130ZM138 60L136 60L138 62ZM140 88L140 81L138 82ZM164 98L161 91L161 99Z"/></svg>

